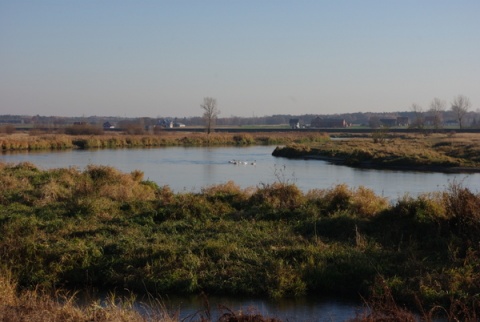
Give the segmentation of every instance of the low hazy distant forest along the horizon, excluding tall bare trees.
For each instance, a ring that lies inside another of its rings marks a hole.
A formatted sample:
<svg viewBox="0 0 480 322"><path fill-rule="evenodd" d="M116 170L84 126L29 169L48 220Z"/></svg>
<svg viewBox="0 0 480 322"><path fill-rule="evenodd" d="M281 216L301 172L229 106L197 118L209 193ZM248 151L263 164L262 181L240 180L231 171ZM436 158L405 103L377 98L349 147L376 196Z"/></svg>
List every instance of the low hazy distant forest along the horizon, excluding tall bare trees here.
<svg viewBox="0 0 480 322"><path fill-rule="evenodd" d="M358 112L358 113L345 113L345 114L303 114L303 115L291 115L291 114L277 114L271 116L255 116L255 117L219 117L216 120L216 125L220 127L237 127L237 126L279 126L289 125L290 120L298 120L302 127L310 126L312 120L317 117L322 119L343 119L350 126L364 126L364 127L378 127L381 125L379 120L394 119L394 118L408 118L410 126L414 126L415 122L418 122L420 118L428 118L429 111L407 111L407 112L384 112L384 113L371 113L371 112ZM441 113L442 124L455 126L456 117L451 110L445 110ZM102 125L109 122L116 128L121 128L122 125L128 124L141 124L145 127L155 126L165 121L182 124L185 126L203 126L204 120L201 116L194 117L138 117L138 118L125 118L114 116L82 116L82 117L60 117L60 116L28 116L28 115L0 115L0 124L10 124L17 128L22 127L63 127L72 125L75 123ZM480 110L469 111L465 114L463 124L465 128L479 128L480 127Z"/></svg>

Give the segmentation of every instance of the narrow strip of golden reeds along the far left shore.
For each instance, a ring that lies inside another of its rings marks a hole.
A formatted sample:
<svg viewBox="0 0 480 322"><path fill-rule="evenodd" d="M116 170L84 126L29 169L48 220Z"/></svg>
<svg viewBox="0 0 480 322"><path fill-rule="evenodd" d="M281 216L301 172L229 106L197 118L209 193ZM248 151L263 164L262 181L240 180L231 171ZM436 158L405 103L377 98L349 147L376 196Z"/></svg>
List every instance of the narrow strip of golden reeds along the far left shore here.
<svg viewBox="0 0 480 322"><path fill-rule="evenodd" d="M150 148L164 146L260 145L313 143L328 140L324 133L179 133L160 132L151 135L102 134L28 135L16 133L0 136L1 151L61 150L90 148Z"/></svg>

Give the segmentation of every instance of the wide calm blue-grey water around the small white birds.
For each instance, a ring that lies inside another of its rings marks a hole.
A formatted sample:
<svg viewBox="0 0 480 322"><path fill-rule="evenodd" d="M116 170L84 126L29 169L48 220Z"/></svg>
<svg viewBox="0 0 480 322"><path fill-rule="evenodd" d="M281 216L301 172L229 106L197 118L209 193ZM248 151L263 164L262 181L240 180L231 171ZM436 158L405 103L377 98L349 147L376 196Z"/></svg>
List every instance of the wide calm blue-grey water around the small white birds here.
<svg viewBox="0 0 480 322"><path fill-rule="evenodd" d="M289 160L271 155L274 146L245 148L168 147L155 149L71 150L22 152L1 155L4 162L29 161L42 168L89 164L110 165L122 171L142 170L145 179L168 185L174 191L199 191L202 187L233 180L242 188L276 181L293 182L303 191L330 188L345 183L365 186L378 195L396 199L405 194L443 191L453 182L472 192L480 191L480 174L443 174L404 171L362 170L331 165L318 160ZM231 160L246 161L235 165ZM252 165L251 163L254 163Z"/></svg>

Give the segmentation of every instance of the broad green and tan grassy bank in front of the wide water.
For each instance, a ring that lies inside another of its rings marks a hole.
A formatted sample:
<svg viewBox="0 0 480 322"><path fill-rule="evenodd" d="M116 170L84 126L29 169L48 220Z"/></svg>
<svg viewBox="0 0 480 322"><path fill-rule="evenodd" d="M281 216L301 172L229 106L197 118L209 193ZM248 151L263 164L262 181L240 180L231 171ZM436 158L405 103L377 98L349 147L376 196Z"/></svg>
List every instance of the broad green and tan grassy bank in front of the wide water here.
<svg viewBox="0 0 480 322"><path fill-rule="evenodd" d="M365 188L173 193L105 166L0 165L0 271L20 288L381 298L478 316L480 196Z"/></svg>

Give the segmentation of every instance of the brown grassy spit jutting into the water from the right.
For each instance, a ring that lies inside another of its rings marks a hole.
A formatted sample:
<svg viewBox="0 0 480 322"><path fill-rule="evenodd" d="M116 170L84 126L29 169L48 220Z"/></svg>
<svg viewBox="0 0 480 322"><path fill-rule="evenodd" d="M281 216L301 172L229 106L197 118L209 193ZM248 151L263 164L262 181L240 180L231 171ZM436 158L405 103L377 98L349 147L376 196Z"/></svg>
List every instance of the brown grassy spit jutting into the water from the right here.
<svg viewBox="0 0 480 322"><path fill-rule="evenodd" d="M480 171L478 134L355 138L288 144L273 155L312 158L353 167L424 171Z"/></svg>

